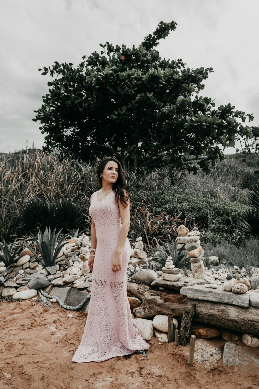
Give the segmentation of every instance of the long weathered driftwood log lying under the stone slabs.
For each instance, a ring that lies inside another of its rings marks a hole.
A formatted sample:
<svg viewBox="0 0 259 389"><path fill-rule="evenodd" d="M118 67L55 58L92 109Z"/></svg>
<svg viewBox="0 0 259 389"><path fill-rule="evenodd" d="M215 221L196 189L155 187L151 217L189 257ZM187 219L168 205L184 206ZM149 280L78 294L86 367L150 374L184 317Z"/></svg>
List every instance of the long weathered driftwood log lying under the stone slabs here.
<svg viewBox="0 0 259 389"><path fill-rule="evenodd" d="M196 322L259 335L258 308L193 300L179 293L158 291L135 282L127 282L127 294L142 301L133 310L135 317L145 319L158 314L172 314L181 318L183 312L190 312L192 304L195 304L193 320Z"/></svg>

